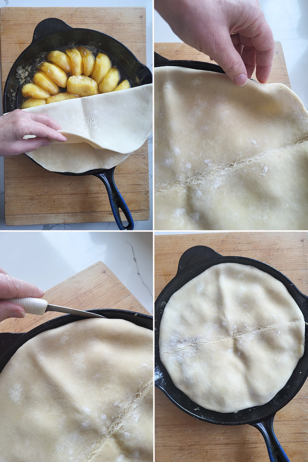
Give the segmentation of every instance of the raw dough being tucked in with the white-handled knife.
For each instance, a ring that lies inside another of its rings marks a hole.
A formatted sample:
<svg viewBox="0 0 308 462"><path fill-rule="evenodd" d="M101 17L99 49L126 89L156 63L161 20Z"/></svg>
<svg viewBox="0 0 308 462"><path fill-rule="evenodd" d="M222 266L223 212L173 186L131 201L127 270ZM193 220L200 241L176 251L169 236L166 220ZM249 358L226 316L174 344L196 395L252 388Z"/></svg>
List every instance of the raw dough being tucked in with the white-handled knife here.
<svg viewBox="0 0 308 462"><path fill-rule="evenodd" d="M85 319L28 340L0 373L0 461L152 462L152 334Z"/></svg>

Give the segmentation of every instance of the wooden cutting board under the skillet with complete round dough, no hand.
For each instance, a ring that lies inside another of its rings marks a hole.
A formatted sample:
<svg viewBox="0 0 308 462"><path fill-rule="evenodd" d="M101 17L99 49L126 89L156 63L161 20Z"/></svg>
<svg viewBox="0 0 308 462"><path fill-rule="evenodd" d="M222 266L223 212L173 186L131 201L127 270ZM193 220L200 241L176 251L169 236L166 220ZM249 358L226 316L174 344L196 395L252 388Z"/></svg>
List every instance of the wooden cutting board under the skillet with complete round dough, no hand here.
<svg viewBox="0 0 308 462"><path fill-rule="evenodd" d="M194 245L264 261L308 295L307 232L218 232L155 236L155 298L175 276L180 256ZM276 414L274 430L291 462L308 460L308 381ZM201 422L157 389L155 445L156 462L269 462L256 428Z"/></svg>

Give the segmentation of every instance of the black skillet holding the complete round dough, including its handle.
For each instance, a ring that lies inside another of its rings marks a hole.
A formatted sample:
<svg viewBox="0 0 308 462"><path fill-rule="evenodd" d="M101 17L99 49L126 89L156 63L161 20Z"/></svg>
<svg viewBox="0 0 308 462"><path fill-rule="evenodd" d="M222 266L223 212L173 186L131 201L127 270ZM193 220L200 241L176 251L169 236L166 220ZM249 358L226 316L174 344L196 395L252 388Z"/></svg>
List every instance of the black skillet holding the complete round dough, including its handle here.
<svg viewBox="0 0 308 462"><path fill-rule="evenodd" d="M237 256L223 256L209 247L198 245L186 250L180 258L175 277L157 297L155 303L155 385L177 407L196 419L218 425L243 425L249 424L256 427L265 439L271 462L290 462L283 448L278 442L273 430L275 414L284 407L298 393L308 376L308 326L305 328L305 350L302 358L298 361L289 381L274 398L263 406L255 406L243 409L237 413L219 413L210 411L191 401L188 396L177 389L169 377L159 357L159 328L163 316L163 310L171 297L184 284L192 280L205 269L219 263L241 263L254 266L265 273L278 279L287 288L290 295L298 304L308 322L308 297L300 292L296 286L277 269L265 263L251 258Z"/></svg>

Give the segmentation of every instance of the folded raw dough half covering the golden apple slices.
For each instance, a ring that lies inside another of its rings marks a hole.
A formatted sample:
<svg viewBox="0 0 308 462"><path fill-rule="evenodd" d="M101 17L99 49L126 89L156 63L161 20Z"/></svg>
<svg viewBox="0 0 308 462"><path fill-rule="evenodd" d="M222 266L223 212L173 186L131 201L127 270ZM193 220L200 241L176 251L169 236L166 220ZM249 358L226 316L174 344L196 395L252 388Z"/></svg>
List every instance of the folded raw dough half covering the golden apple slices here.
<svg viewBox="0 0 308 462"><path fill-rule="evenodd" d="M109 169L139 149L152 130L152 84L22 109L48 114L67 141L52 141L28 156L47 170ZM77 143L77 144L76 144Z"/></svg>

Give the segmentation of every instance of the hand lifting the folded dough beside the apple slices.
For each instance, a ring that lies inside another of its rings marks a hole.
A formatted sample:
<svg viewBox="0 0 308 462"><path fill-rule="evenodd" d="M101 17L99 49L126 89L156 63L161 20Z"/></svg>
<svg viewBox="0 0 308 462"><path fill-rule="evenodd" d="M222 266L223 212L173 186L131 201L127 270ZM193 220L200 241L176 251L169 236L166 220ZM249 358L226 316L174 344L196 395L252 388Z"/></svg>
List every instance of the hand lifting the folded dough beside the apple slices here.
<svg viewBox="0 0 308 462"><path fill-rule="evenodd" d="M47 114L15 109L0 117L0 156L35 151L41 146L48 146L48 138L66 141L67 138L56 130L61 130L60 125ZM36 135L36 138L23 140L25 135Z"/></svg>

